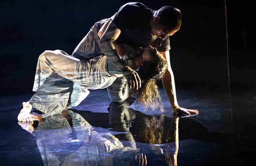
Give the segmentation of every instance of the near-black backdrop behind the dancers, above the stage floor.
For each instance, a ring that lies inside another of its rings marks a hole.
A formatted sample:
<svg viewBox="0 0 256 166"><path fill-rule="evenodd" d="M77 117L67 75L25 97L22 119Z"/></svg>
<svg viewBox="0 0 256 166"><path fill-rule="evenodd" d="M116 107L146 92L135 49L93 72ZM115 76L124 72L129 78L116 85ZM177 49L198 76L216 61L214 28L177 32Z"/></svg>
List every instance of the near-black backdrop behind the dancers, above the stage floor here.
<svg viewBox="0 0 256 166"><path fill-rule="evenodd" d="M129 1L2 0L0 3L1 96L32 92L38 56L44 50L72 54L95 22ZM227 90L224 0L139 1L157 10L182 12L180 31L170 37L177 89ZM227 1L231 92L255 89L255 30L247 1ZM161 85L160 85L161 86Z"/></svg>

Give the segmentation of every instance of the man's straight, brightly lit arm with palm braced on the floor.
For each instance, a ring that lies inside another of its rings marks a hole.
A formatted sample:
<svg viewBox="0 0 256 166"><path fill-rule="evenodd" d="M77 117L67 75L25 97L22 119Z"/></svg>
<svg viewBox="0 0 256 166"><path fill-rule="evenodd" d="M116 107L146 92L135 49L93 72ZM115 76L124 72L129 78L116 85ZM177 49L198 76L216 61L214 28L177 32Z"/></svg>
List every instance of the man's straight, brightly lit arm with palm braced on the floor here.
<svg viewBox="0 0 256 166"><path fill-rule="evenodd" d="M165 93L167 94L168 99L170 100L170 104L172 105L173 113L198 113L196 109L186 109L179 107L176 97L176 89L175 89L175 82L174 82L174 76L173 71L170 64L170 53L169 51L161 52L163 57L167 60L168 68L163 75L162 78L162 84L163 89L165 90Z"/></svg>

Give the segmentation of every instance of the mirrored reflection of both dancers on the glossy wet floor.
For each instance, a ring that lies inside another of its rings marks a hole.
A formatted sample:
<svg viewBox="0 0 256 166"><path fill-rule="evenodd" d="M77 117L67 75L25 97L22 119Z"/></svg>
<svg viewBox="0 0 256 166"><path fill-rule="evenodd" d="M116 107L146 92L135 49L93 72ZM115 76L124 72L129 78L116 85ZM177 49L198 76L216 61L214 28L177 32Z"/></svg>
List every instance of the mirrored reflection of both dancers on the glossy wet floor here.
<svg viewBox="0 0 256 166"><path fill-rule="evenodd" d="M126 108L126 104L111 103L109 121L101 123L109 122L112 129L94 127L85 119L91 112L75 110L42 115L37 124L19 125L35 136L44 165L177 165L178 117L168 117L171 121L163 126L163 115L147 116ZM105 116L93 114L99 119ZM134 133L129 131L132 123L140 121L143 123ZM144 143L140 145L143 148L138 148L136 142ZM170 142L174 144L166 147Z"/></svg>

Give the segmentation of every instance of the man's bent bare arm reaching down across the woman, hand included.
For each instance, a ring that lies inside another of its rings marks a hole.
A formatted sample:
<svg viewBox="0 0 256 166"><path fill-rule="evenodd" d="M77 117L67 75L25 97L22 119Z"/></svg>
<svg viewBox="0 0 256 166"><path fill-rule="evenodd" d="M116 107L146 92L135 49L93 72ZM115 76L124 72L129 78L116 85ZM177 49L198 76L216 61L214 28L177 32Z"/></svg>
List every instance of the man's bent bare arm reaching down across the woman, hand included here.
<svg viewBox="0 0 256 166"><path fill-rule="evenodd" d="M120 29L118 29L116 25L110 20L106 30L103 32L101 39L99 40L99 47L108 57L108 59L114 62L113 64L116 65L117 68L121 69L124 77L128 81L130 88L138 89L141 86L138 73L126 65L123 59L117 54L117 51L113 45L113 41L118 38L120 33Z"/></svg>

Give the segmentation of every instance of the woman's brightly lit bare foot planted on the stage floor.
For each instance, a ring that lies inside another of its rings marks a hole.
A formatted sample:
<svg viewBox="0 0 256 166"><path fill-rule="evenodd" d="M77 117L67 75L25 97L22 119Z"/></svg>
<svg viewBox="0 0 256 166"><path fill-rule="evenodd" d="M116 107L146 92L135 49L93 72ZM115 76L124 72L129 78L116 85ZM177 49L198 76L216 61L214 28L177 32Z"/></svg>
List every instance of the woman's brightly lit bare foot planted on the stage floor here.
<svg viewBox="0 0 256 166"><path fill-rule="evenodd" d="M32 105L29 102L23 102L22 105L23 108L18 115L18 121L33 121L33 117L29 114L32 110Z"/></svg>

